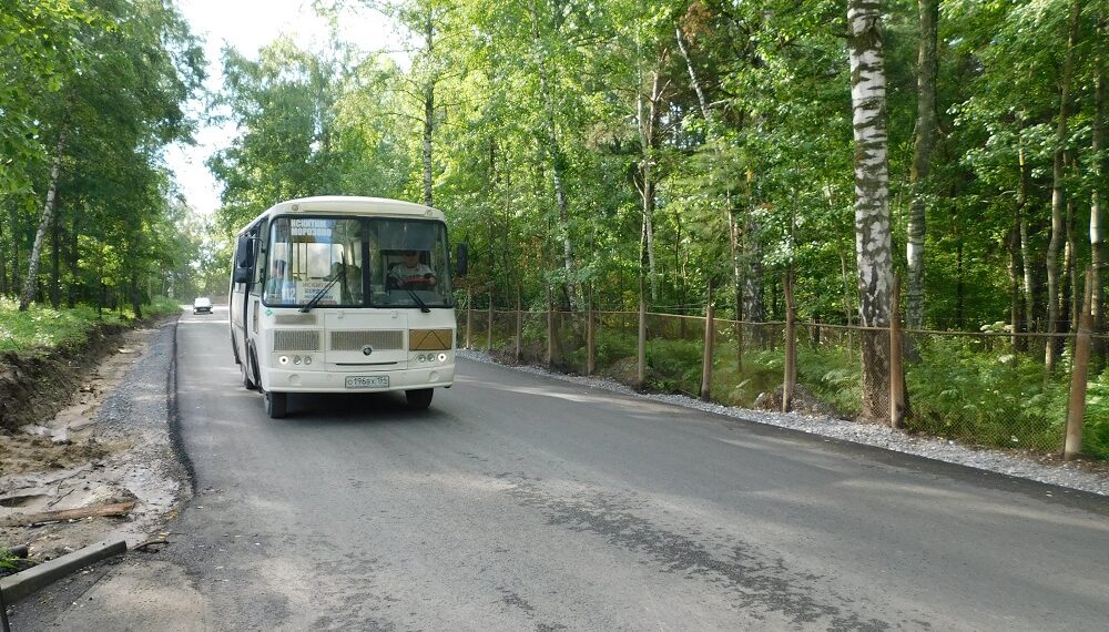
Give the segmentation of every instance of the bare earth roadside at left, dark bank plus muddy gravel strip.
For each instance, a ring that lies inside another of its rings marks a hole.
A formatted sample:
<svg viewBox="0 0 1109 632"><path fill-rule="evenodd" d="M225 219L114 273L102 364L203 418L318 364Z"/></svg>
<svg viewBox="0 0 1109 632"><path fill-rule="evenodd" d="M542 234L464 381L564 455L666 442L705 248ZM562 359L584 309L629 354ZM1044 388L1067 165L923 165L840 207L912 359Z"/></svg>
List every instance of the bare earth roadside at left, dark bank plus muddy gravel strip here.
<svg viewBox="0 0 1109 632"><path fill-rule="evenodd" d="M28 547L33 564L142 538L172 510L184 489L166 431L172 327L100 327L80 348L0 356L0 547Z"/></svg>

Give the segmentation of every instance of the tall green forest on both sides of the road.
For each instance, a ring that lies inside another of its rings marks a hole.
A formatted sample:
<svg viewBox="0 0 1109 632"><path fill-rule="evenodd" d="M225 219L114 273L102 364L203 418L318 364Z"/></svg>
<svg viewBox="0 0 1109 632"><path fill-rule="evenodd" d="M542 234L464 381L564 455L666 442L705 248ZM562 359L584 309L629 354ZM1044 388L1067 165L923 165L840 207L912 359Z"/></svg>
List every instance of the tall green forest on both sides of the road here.
<svg viewBox="0 0 1109 632"><path fill-rule="evenodd" d="M801 322L887 327L899 279L908 330L1027 334L1009 350L1050 376L1089 269L1106 330L1107 0L316 0L391 20L399 50L227 48L205 95L172 2L0 4L22 305L216 292L248 218L350 194L444 210L482 306L766 323L788 285ZM213 215L162 155L200 96L238 131ZM883 340L864 394L888 390Z"/></svg>

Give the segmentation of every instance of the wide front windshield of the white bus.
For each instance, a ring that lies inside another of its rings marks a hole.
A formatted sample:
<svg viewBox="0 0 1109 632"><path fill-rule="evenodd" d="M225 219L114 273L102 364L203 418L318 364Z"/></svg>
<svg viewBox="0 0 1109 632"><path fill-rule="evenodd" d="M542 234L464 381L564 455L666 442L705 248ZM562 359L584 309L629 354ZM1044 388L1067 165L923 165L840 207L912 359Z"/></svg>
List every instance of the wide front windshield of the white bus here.
<svg viewBox="0 0 1109 632"><path fill-rule="evenodd" d="M435 220L278 216L263 303L451 307L447 253L446 227Z"/></svg>

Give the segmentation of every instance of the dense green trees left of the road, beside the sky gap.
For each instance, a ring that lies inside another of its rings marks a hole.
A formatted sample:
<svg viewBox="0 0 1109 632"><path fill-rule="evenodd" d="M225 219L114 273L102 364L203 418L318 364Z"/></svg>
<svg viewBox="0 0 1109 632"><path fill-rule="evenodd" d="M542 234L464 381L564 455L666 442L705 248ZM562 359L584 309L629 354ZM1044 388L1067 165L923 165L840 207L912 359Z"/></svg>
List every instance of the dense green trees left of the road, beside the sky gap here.
<svg viewBox="0 0 1109 632"><path fill-rule="evenodd" d="M191 255L162 149L192 131L183 104L203 80L200 45L164 0L2 6L13 65L0 86L0 271L11 279L0 287L17 294L42 262L32 300L140 312ZM39 234L48 191L54 222ZM43 269L49 255L57 271Z"/></svg>

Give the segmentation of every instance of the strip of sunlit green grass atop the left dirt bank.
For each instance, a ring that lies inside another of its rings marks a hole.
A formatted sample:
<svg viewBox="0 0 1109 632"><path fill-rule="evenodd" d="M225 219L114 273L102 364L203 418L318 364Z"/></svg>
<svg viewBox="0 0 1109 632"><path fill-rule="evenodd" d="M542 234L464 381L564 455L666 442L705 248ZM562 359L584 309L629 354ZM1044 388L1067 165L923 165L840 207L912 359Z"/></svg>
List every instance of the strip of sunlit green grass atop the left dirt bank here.
<svg viewBox="0 0 1109 632"><path fill-rule="evenodd" d="M144 306L143 315L161 316L180 310L175 302L159 297ZM18 302L0 298L0 353L45 353L58 347L79 346L88 342L89 333L96 325L128 325L133 320L130 308L98 315L95 307L90 305L54 309L32 304L20 312Z"/></svg>

